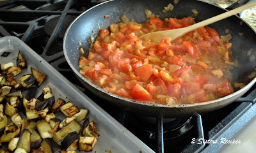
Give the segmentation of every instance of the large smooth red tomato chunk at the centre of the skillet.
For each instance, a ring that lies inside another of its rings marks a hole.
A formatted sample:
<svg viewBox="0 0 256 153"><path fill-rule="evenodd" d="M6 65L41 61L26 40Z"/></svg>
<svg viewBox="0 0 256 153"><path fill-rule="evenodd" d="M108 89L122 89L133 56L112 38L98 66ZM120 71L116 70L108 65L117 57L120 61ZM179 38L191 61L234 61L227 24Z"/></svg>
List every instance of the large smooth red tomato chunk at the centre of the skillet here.
<svg viewBox="0 0 256 153"><path fill-rule="evenodd" d="M142 66L134 69L136 76L140 77L143 82L147 82L148 78L153 74L153 68L151 64L143 64Z"/></svg>

